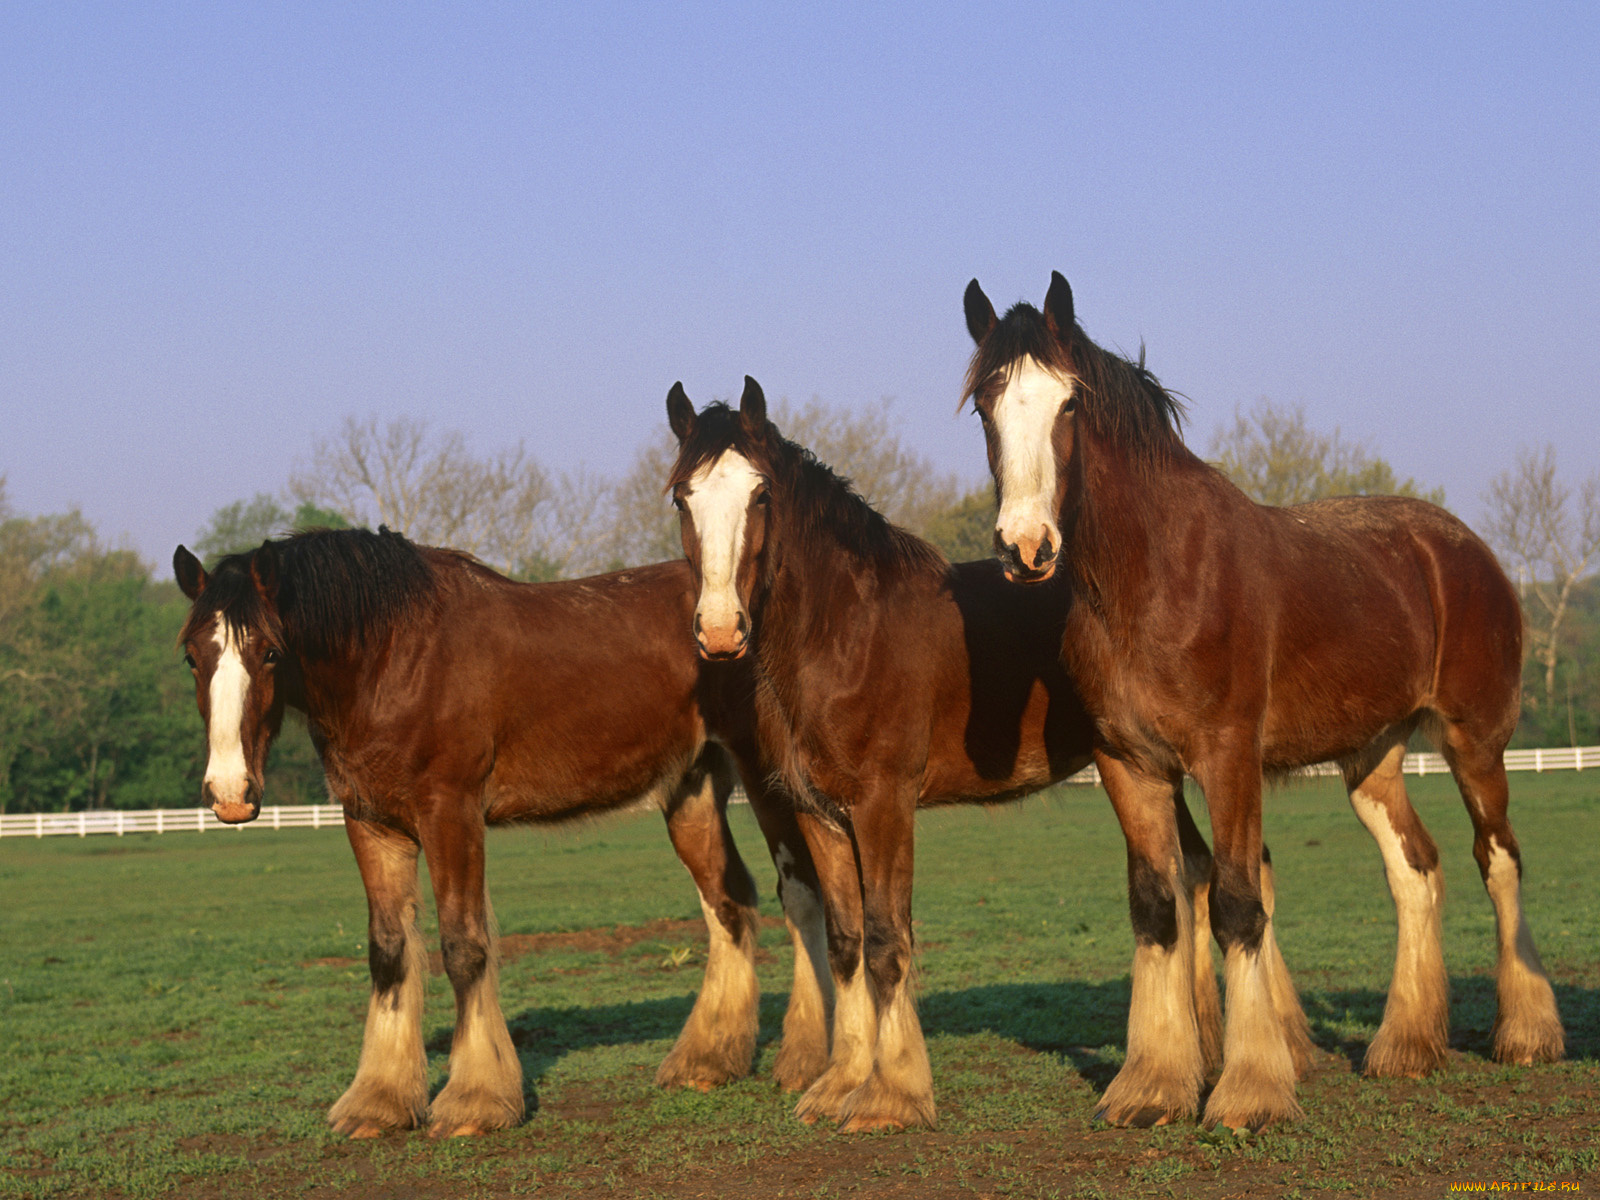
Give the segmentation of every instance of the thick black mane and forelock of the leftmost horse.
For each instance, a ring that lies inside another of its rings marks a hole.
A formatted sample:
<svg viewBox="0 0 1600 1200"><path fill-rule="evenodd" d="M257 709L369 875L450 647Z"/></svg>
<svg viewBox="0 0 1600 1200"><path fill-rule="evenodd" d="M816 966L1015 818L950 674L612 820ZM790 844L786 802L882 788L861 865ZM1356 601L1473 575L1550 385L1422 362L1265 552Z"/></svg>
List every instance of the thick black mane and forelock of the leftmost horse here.
<svg viewBox="0 0 1600 1200"><path fill-rule="evenodd" d="M275 606L262 602L253 578L264 552L277 560ZM328 658L430 611L434 589L432 566L398 533L312 530L219 562L182 637L194 637L221 614L235 637L262 629L282 648Z"/></svg>

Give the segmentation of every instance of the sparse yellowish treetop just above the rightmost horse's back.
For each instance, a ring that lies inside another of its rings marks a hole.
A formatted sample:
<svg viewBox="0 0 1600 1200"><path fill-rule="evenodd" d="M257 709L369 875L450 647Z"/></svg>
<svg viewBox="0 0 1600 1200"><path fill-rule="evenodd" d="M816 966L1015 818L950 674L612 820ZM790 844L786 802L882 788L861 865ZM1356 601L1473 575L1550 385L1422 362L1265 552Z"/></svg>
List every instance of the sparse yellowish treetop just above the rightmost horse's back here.
<svg viewBox="0 0 1600 1200"><path fill-rule="evenodd" d="M1394 467L1339 430L1306 427L1299 405L1278 408L1262 398L1248 414L1234 410L1234 424L1219 429L1210 450L1216 467L1258 504L1304 504L1325 496L1416 496L1445 502L1445 490L1424 491L1395 477Z"/></svg>

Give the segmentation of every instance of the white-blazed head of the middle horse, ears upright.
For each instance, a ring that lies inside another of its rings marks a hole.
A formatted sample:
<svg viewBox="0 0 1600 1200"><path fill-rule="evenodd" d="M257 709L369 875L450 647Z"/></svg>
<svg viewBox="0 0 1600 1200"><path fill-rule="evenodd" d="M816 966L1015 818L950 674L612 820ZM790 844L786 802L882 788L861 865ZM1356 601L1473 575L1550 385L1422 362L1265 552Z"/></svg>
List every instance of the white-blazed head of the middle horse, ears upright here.
<svg viewBox="0 0 1600 1200"><path fill-rule="evenodd" d="M773 435L766 397L744 376L738 411L715 403L696 413L683 384L674 384L667 419L678 438L672 504L698 594L694 640L707 659L742 658L768 541L771 480L760 466Z"/></svg>

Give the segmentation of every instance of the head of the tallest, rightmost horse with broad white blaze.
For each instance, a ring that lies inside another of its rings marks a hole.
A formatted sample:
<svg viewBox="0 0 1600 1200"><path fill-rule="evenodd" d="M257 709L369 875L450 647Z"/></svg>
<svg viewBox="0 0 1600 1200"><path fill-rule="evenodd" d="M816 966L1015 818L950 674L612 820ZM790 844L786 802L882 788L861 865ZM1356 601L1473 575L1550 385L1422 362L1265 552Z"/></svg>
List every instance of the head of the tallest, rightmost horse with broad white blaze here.
<svg viewBox="0 0 1600 1200"><path fill-rule="evenodd" d="M1072 288L1053 272L1045 310L1016 304L1005 318L978 280L966 285L966 330L978 349L966 395L984 426L1000 515L995 554L1006 578L1042 582L1061 557L1061 509L1077 422L1078 378L1069 336Z"/></svg>

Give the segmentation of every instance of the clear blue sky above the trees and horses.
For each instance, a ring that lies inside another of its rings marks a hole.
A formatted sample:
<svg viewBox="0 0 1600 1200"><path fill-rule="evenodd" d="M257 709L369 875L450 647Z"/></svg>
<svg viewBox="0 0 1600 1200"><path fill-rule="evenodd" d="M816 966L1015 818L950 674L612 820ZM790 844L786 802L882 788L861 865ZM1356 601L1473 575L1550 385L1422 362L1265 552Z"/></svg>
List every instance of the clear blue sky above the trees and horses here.
<svg viewBox="0 0 1600 1200"><path fill-rule="evenodd" d="M1597 470L1600 8L0 10L0 474L158 563L346 414L618 472L674 379L976 482L962 288L1051 269L1200 450Z"/></svg>

